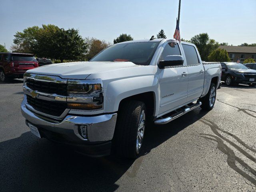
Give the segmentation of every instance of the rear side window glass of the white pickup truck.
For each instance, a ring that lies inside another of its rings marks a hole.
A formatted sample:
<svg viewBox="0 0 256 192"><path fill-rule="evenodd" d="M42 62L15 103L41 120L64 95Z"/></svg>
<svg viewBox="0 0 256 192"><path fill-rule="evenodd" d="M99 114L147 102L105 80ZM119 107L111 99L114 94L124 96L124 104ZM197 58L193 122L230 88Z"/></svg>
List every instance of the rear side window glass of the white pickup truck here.
<svg viewBox="0 0 256 192"><path fill-rule="evenodd" d="M192 45L182 44L182 48L185 53L187 65L197 65L199 64L198 55L196 49Z"/></svg>

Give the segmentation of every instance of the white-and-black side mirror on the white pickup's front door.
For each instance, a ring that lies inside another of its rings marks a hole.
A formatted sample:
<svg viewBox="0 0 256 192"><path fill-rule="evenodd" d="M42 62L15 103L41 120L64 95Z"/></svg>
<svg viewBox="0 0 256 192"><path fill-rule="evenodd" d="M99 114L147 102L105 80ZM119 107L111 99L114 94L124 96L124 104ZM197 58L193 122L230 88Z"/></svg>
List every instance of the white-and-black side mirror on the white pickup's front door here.
<svg viewBox="0 0 256 192"><path fill-rule="evenodd" d="M184 58L181 55L168 55L164 60L160 61L158 67L164 69L170 66L182 66L184 63Z"/></svg>

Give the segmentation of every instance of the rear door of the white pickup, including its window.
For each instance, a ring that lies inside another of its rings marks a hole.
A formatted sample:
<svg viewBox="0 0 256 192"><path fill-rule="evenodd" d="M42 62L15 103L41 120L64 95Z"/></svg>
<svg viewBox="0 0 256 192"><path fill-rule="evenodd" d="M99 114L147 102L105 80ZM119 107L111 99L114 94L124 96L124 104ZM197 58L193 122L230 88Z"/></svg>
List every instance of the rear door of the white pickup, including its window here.
<svg viewBox="0 0 256 192"><path fill-rule="evenodd" d="M182 43L182 48L188 68L187 102L190 102L199 98L204 90L204 66L194 45Z"/></svg>

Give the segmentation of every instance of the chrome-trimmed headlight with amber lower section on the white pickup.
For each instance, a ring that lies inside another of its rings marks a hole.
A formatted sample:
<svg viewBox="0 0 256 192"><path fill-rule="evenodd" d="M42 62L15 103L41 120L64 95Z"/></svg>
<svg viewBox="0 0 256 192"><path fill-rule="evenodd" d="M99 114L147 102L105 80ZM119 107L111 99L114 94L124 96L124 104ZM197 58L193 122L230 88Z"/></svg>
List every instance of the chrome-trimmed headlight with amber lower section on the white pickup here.
<svg viewBox="0 0 256 192"><path fill-rule="evenodd" d="M99 110L103 101L102 80L68 80L68 108Z"/></svg>

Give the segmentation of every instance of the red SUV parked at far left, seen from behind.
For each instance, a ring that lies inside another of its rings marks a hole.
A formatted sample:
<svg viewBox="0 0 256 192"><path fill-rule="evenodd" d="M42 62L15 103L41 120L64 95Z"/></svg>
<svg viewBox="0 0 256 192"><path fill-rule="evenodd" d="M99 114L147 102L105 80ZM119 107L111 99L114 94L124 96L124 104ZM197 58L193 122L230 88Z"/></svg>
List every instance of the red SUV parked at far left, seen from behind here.
<svg viewBox="0 0 256 192"><path fill-rule="evenodd" d="M0 82L7 78L23 78L24 73L38 67L34 55L0 52Z"/></svg>

